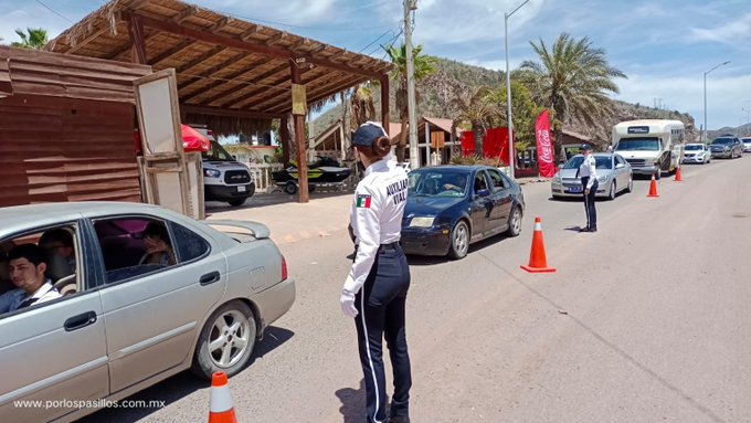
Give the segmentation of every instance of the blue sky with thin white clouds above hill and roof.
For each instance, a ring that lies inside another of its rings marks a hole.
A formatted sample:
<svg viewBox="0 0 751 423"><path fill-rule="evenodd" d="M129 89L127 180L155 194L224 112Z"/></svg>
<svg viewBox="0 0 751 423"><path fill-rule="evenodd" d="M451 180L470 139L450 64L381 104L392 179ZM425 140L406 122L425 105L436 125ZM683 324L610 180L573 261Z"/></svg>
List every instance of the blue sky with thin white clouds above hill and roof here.
<svg viewBox="0 0 751 423"><path fill-rule="evenodd" d="M427 54L504 70L504 13L523 0L419 0L414 42ZM104 0L0 0L0 36L42 27L52 36ZM276 6L281 4L281 6ZM200 7L383 57L401 0L203 0ZM530 0L509 19L509 64L536 60L529 42L561 32L606 51L618 80L614 98L688 112L710 129L745 124L751 112L751 0ZM398 42L401 39L396 38ZM372 44L371 44L372 43ZM369 45L370 44L370 45Z"/></svg>

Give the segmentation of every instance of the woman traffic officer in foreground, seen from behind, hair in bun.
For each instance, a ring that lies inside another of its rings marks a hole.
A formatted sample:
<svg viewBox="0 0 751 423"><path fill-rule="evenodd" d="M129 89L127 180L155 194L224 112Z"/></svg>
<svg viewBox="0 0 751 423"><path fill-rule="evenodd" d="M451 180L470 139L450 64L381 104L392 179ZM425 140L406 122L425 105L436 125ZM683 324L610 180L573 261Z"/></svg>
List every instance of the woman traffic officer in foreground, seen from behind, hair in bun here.
<svg viewBox="0 0 751 423"><path fill-rule="evenodd" d="M366 177L355 190L350 212L356 254L341 292L341 310L355 318L357 327L368 422L387 422L382 356L385 337L394 384L388 422L409 423L412 376L404 304L410 268L399 244L406 202L406 172L390 160L391 142L378 124L362 124L352 136L352 147L355 159L366 167Z"/></svg>

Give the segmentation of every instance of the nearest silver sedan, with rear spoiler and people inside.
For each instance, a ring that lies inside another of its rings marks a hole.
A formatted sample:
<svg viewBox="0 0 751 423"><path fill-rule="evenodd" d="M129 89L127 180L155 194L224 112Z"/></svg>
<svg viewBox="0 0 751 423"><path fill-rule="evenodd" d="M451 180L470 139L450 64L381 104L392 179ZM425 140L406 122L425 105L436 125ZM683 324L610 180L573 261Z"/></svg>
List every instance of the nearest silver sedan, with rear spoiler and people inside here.
<svg viewBox="0 0 751 423"><path fill-rule="evenodd" d="M9 258L20 244L50 248L35 281L61 294L0 314L3 422L73 421L186 369L237 373L295 302L260 223L108 202L6 208L0 221L2 296L29 286Z"/></svg>

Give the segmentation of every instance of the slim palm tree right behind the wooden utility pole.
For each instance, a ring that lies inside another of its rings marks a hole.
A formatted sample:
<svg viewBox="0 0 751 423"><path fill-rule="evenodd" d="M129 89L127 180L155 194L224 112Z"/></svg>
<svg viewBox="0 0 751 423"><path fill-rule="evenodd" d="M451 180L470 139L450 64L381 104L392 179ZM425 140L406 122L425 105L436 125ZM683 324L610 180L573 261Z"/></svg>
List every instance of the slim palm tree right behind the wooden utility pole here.
<svg viewBox="0 0 751 423"><path fill-rule="evenodd" d="M398 81L396 85L396 109L399 110L399 119L402 123L402 131L399 134L399 141L396 144L396 160L404 161L404 149L406 147L406 125L410 115L406 98L406 44L402 44L401 49L393 45L381 45L389 54L391 63L395 65L391 73L391 78ZM423 80L425 76L435 72L435 59L420 54L422 52L422 44L412 49L412 62L414 63L414 80L415 82ZM420 93L415 88L415 103L420 103Z"/></svg>

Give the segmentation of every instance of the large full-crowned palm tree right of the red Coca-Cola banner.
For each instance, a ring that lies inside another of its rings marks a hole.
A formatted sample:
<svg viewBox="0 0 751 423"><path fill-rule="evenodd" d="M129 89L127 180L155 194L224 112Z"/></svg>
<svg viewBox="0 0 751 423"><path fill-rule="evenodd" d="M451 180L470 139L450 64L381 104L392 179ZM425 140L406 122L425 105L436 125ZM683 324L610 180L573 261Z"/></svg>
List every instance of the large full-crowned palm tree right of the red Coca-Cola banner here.
<svg viewBox="0 0 751 423"><path fill-rule="evenodd" d="M609 93L617 94L615 77L626 77L611 66L603 49L595 49L588 36L574 40L568 33L558 36L548 50L544 42L530 42L540 62L525 61L519 75L532 98L554 112L556 155L560 154L562 126L577 118L586 125L606 119L614 113Z"/></svg>

